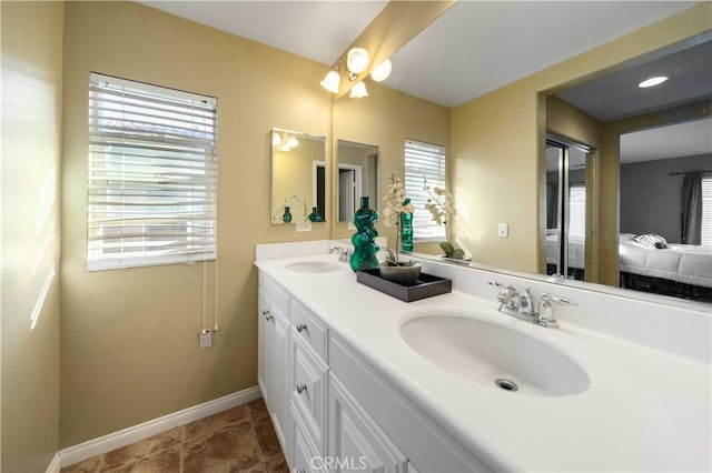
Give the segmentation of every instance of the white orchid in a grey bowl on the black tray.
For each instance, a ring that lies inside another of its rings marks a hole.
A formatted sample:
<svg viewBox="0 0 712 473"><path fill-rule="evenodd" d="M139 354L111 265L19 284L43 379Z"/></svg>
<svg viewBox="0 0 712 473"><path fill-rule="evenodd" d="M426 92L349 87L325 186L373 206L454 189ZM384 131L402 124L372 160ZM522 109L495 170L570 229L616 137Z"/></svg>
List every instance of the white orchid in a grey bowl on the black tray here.
<svg viewBox="0 0 712 473"><path fill-rule="evenodd" d="M394 171L388 175L390 184L384 198L386 208L383 211L383 222L386 227L396 227L396 251L388 249L386 260L380 264L380 276L403 285L413 285L421 275L421 265L413 261L400 261L400 218L404 213L413 213L415 210L409 199L405 197L405 189L398 174Z"/></svg>

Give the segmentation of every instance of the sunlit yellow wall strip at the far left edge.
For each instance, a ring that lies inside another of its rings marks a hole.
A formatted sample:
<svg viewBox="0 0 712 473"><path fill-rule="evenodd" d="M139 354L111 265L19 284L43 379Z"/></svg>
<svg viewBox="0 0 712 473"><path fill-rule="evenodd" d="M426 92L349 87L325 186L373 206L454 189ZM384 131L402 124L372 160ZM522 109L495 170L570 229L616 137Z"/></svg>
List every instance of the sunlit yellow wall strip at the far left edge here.
<svg viewBox="0 0 712 473"><path fill-rule="evenodd" d="M58 177L63 6L59 2L1 2L0 11L0 470L43 472L59 446ZM30 318L36 306L41 309L32 329Z"/></svg>

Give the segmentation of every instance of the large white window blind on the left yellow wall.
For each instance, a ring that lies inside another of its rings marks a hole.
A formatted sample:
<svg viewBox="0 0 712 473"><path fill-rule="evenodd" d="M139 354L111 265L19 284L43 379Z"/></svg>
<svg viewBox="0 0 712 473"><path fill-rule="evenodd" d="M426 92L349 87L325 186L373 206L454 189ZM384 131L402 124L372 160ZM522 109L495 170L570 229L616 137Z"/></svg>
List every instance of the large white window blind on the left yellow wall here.
<svg viewBox="0 0 712 473"><path fill-rule="evenodd" d="M91 73L87 269L217 254L217 100Z"/></svg>

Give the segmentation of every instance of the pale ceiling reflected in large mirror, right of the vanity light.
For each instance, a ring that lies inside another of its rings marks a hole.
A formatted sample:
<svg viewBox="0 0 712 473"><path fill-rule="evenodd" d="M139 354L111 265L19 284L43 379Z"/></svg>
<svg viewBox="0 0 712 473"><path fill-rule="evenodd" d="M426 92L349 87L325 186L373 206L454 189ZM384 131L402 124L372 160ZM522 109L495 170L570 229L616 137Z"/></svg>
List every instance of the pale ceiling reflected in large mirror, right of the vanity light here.
<svg viewBox="0 0 712 473"><path fill-rule="evenodd" d="M459 1L392 57L386 84L459 105L692 4Z"/></svg>

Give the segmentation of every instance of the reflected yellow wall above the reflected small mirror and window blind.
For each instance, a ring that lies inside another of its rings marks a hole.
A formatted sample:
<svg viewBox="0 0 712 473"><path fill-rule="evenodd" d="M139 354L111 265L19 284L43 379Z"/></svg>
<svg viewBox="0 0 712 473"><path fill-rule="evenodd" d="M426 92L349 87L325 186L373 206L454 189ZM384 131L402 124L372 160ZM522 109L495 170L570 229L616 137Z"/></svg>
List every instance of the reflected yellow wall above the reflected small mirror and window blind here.
<svg viewBox="0 0 712 473"><path fill-rule="evenodd" d="M397 171L404 175L405 139L442 144L449 149L449 109L417 99L407 93L367 81L369 97L334 102L333 141L346 140L378 147L378 201L370 199L370 207L380 209L388 187L388 174ZM332 179L336 180L335 171ZM336 201L333 199L334 211ZM332 236L350 238L353 230L347 222L332 220ZM395 244L395 229L376 223L380 236ZM418 250L419 251L419 250Z"/></svg>

